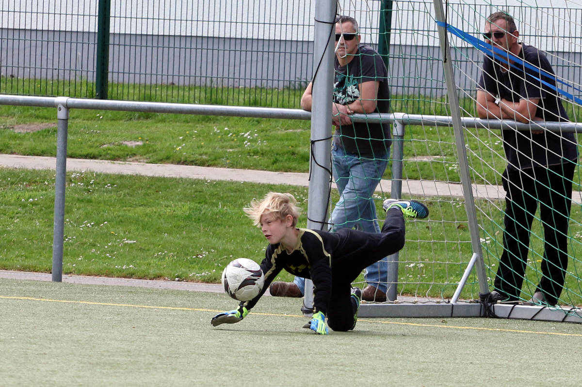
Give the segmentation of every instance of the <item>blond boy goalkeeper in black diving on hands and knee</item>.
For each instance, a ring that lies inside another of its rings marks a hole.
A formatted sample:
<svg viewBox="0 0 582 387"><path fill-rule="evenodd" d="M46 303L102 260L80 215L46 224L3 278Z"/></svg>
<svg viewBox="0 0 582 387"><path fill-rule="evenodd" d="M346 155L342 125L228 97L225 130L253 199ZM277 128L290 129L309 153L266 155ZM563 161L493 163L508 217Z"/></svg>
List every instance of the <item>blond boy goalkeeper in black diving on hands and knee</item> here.
<svg viewBox="0 0 582 387"><path fill-rule="evenodd" d="M311 278L314 285L314 314L304 325L317 334L350 331L356 326L361 291L352 282L364 268L404 246L404 217L425 218L428 209L416 200L386 199L382 232L370 233L349 228L337 232L296 228L299 208L293 195L269 192L253 201L244 212L261 228L269 241L261 269L265 275L262 291L236 310L219 313L212 325L239 322L249 314L271 281L285 269L291 274ZM326 325L327 318L327 325Z"/></svg>

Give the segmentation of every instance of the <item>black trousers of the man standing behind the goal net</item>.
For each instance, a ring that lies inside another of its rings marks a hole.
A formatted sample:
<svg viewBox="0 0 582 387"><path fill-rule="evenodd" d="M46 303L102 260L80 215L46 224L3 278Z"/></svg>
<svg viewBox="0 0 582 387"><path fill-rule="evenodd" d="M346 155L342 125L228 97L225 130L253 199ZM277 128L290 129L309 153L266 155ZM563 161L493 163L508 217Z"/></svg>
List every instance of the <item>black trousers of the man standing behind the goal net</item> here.
<svg viewBox="0 0 582 387"><path fill-rule="evenodd" d="M572 205L574 163L533 169L506 170L503 188L506 210L503 223L503 253L495 277L495 289L519 299L526 273L530 230L540 203L540 220L544 227L542 277L536 291L549 304L558 302L568 266L568 222Z"/></svg>

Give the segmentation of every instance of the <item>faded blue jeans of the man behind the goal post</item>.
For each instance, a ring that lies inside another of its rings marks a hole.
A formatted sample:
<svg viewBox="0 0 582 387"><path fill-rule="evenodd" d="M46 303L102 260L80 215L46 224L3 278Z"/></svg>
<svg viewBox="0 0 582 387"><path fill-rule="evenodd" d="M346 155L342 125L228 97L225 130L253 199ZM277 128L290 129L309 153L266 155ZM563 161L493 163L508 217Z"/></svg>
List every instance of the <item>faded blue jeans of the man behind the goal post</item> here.
<svg viewBox="0 0 582 387"><path fill-rule="evenodd" d="M356 228L365 232L380 232L376 219L376 205L372 194L386 166L390 151L375 153L374 157L360 157L356 153L346 152L333 144L332 150L333 180L339 191L339 201L329 219L330 231L340 228ZM372 263L365 270L365 281L386 292L388 282L388 257ZM295 277L293 282L299 286L301 293L305 288L304 279Z"/></svg>

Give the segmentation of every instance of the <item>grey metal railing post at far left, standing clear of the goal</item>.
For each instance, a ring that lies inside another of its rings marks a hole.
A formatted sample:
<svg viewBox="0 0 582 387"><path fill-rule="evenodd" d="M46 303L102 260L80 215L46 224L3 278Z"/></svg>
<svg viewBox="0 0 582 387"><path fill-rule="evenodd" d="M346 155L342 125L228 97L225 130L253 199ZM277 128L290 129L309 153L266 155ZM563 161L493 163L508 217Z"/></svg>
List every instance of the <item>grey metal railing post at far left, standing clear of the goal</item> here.
<svg viewBox="0 0 582 387"><path fill-rule="evenodd" d="M65 236L65 186L69 109L67 97L55 99L58 128L56 134L55 221L52 237L52 281L63 280L63 240Z"/></svg>

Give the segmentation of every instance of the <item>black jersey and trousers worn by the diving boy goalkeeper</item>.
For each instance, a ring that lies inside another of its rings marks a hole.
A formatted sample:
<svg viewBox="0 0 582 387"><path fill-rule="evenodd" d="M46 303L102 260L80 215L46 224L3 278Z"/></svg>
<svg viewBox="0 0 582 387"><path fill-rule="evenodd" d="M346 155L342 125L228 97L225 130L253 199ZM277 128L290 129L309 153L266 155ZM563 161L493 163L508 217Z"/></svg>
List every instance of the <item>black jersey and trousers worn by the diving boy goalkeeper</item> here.
<svg viewBox="0 0 582 387"><path fill-rule="evenodd" d="M313 281L314 310L328 317L330 328L339 331L352 329L352 282L366 267L403 248L405 228L399 207L386 212L382 232L350 228L327 232L297 228L297 245L291 252L285 250L281 243L267 246L265 259L261 262L265 275L261 293L240 305L247 309L255 306L281 270L286 270Z"/></svg>

